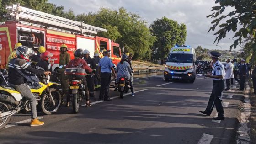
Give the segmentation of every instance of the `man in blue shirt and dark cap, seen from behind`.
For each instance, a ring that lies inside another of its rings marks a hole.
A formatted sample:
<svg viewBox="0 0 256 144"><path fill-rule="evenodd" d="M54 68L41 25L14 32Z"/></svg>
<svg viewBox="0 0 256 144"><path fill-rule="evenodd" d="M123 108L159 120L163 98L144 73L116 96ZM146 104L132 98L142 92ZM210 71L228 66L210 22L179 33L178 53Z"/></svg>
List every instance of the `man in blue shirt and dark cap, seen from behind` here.
<svg viewBox="0 0 256 144"><path fill-rule="evenodd" d="M101 89L100 89L100 100L111 101L109 98L109 85L111 80L111 72L113 73L113 77L116 77L116 72L114 69L114 64L112 63L112 59L110 59L110 50L106 50L103 52L104 57L99 61L99 75L101 78Z"/></svg>

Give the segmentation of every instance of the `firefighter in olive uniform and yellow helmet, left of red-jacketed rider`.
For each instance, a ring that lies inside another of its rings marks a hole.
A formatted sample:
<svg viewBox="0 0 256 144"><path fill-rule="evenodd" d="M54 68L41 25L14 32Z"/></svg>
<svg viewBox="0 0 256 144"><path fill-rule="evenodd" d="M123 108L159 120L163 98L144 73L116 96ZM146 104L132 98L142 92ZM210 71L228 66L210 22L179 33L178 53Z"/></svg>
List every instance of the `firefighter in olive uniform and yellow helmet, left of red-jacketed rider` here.
<svg viewBox="0 0 256 144"><path fill-rule="evenodd" d="M62 85L62 93L63 96L67 97L67 101L69 101L69 79L65 76L64 71L65 67L69 64L70 61L70 54L67 52L68 47L65 44L62 44L60 46L60 54L59 54L59 66L62 66L62 68L58 69L58 72L60 73L60 82ZM69 103L66 103L66 106L69 107Z"/></svg>

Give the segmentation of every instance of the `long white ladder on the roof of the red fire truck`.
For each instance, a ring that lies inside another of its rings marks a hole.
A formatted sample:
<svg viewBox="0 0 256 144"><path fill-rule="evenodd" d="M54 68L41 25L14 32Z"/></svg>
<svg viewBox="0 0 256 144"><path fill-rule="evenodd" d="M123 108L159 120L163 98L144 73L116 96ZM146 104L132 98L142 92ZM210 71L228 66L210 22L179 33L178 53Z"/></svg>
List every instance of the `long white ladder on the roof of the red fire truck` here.
<svg viewBox="0 0 256 144"><path fill-rule="evenodd" d="M60 16L54 16L45 12L35 11L22 7L19 4L6 6L8 21L27 21L36 24L43 24L46 27L56 27L60 29L67 29L78 33L93 33L107 32L106 29L94 27L79 21L69 20Z"/></svg>

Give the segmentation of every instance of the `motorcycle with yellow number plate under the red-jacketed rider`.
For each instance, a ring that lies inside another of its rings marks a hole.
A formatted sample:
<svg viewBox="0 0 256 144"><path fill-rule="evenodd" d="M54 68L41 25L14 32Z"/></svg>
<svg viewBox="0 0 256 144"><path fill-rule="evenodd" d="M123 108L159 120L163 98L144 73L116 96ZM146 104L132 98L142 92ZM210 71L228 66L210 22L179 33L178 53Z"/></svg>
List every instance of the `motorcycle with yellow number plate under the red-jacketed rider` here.
<svg viewBox="0 0 256 144"><path fill-rule="evenodd" d="M69 92L72 99L73 112L78 113L79 103L85 97L85 85L82 80L85 80L86 72L82 68L67 68L65 75L68 76L70 86Z"/></svg>

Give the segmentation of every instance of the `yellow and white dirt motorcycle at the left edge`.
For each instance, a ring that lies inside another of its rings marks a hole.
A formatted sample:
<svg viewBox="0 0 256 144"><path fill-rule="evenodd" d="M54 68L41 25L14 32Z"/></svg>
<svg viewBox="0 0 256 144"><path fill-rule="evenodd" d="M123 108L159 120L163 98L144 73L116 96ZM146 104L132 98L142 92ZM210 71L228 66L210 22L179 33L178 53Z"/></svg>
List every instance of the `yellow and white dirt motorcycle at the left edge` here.
<svg viewBox="0 0 256 144"><path fill-rule="evenodd" d="M0 130L5 128L12 115L18 112L28 112L31 108L29 101L11 87L5 78L0 72L0 81L2 82L0 83ZM61 92L59 84L48 82L45 75L42 76L42 79L39 86L31 89L31 92L36 97L37 105L39 104L42 112L50 115L61 107Z"/></svg>

